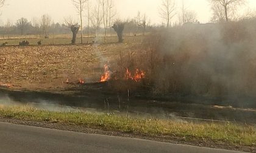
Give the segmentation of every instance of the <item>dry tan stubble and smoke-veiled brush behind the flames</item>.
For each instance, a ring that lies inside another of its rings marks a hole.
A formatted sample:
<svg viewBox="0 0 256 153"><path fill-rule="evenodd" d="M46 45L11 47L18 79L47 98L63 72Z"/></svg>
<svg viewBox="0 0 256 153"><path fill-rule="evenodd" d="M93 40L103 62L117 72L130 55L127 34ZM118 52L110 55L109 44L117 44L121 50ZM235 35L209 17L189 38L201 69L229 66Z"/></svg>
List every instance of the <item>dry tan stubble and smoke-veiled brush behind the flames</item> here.
<svg viewBox="0 0 256 153"><path fill-rule="evenodd" d="M142 70L143 86L158 95L254 97L253 25L254 20L184 25L128 45L2 47L0 81L44 89L62 87L67 78L95 82L108 64L113 80L124 80L127 68L132 74ZM126 83L116 87L127 90Z"/></svg>

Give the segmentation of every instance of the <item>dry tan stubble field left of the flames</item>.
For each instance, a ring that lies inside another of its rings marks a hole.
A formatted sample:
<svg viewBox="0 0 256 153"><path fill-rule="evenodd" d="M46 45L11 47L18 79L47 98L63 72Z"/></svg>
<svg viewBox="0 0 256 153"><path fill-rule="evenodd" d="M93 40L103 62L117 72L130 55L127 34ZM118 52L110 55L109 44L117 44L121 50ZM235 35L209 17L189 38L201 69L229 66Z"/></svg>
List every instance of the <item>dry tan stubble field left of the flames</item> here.
<svg viewBox="0 0 256 153"><path fill-rule="evenodd" d="M128 44L0 48L0 83L14 89L56 90L65 82L97 82Z"/></svg>

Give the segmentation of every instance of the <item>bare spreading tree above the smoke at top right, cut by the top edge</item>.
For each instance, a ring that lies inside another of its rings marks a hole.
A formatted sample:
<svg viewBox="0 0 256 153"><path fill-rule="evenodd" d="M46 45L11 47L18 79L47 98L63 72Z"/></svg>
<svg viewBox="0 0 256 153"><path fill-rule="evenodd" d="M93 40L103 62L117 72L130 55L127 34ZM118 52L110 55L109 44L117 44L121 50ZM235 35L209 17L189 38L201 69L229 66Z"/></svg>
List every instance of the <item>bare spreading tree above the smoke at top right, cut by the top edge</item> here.
<svg viewBox="0 0 256 153"><path fill-rule="evenodd" d="M220 5L224 10L225 19L229 21L229 10L236 9L238 5L244 4L246 0L209 0L213 5ZM212 7L213 11L216 11L215 7ZM216 12L215 12L216 13Z"/></svg>

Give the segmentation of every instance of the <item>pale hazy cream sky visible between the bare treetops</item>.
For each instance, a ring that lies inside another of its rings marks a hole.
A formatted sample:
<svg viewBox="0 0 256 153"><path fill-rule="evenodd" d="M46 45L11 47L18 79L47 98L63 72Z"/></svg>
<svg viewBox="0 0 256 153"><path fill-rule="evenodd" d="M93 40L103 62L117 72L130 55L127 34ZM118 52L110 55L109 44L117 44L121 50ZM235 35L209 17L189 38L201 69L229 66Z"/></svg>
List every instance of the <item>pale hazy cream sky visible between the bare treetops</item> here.
<svg viewBox="0 0 256 153"><path fill-rule="evenodd" d="M6 0L7 5L1 9L2 15L0 19L7 21L11 19L13 23L21 17L32 19L34 16L48 14L55 22L63 22L65 16L74 16L77 18L76 9L71 0ZM90 0L91 2L95 0ZM161 23L158 9L161 0L113 0L118 12L119 18L133 18L137 15L138 10L146 13L152 23ZM256 8L256 0L247 0L244 8ZM177 11L180 10L182 0L176 0ZM211 9L208 0L185 0L189 10L197 13L197 19L200 22L210 21Z"/></svg>

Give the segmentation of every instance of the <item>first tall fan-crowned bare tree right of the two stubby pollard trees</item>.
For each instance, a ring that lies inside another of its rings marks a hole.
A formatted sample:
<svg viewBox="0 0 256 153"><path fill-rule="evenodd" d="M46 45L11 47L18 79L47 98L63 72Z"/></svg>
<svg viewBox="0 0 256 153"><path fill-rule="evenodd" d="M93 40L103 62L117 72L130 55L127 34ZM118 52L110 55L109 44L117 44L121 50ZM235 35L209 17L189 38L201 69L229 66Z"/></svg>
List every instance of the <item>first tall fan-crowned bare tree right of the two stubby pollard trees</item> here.
<svg viewBox="0 0 256 153"><path fill-rule="evenodd" d="M159 10L160 17L166 20L167 27L170 26L171 19L176 15L175 1L162 0L162 5Z"/></svg>

